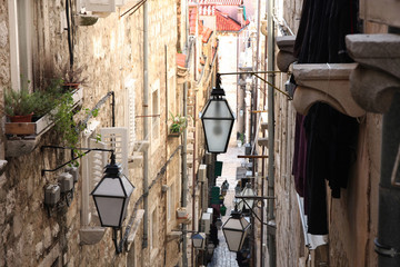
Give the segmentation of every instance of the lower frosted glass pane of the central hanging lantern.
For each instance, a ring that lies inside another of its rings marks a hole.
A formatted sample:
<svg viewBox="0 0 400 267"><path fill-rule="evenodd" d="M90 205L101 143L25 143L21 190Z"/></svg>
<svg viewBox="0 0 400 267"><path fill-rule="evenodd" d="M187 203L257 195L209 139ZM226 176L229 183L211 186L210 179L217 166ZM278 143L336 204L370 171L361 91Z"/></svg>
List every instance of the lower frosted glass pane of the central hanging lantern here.
<svg viewBox="0 0 400 267"><path fill-rule="evenodd" d="M210 152L224 151L230 138L233 120L212 120L203 118L204 134Z"/></svg>

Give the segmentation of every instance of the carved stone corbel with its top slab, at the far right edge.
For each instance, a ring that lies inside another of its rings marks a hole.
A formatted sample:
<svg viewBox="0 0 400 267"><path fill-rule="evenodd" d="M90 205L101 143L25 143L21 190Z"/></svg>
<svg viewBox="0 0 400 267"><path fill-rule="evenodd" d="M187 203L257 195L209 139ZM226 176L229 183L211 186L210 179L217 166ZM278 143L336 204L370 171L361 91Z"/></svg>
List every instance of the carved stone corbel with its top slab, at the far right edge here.
<svg viewBox="0 0 400 267"><path fill-rule="evenodd" d="M359 63L350 77L352 97L370 112L387 112L400 89L400 36L350 34L346 44Z"/></svg>

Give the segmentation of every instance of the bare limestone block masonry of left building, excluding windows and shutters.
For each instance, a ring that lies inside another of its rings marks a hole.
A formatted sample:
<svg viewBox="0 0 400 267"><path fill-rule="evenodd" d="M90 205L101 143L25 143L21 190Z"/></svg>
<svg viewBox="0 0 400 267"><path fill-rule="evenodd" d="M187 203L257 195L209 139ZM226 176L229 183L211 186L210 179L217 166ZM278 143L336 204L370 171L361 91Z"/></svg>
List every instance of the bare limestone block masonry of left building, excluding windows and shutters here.
<svg viewBox="0 0 400 267"><path fill-rule="evenodd" d="M6 0L0 1L0 87L10 82L10 55L8 43L8 7ZM149 4L149 88L159 90L158 140L152 138L151 165L149 184L156 179L161 167L169 157L167 150L167 107L166 85L167 72L176 67L177 44L177 1L148 1ZM33 77L39 87L46 77L57 72L69 60L68 34L60 33L61 12L64 12L66 1L34 1L33 4ZM116 126L128 127L128 101L126 82L134 80L134 120L136 140L144 139L142 135L143 113L143 9L133 14L120 17L119 9L106 18L100 18L91 27L73 27L71 36L73 61L76 66L86 65L84 73L89 82L84 86L84 108L92 108L108 91L116 93ZM167 49L166 49L167 48ZM172 82L169 89L176 89ZM149 93L151 99L151 92ZM177 96L181 92L177 91ZM157 102L156 102L157 103ZM152 105L152 103L151 103ZM149 113L152 113L152 107ZM111 126L111 107L107 102L99 111L97 120L99 127ZM154 123L156 123L154 122ZM156 135L156 134L154 134ZM154 145L156 144L156 145ZM42 145L60 145L59 138L52 130L47 132L38 147ZM173 142L173 146L177 144ZM172 146L172 145L171 145ZM177 156L176 156L177 157ZM179 157L179 156L178 156ZM81 245L79 230L81 228L81 182L76 185L74 198L71 205L60 207L48 216L43 207L43 188L54 181L54 175L41 176L42 168L53 168L69 158L69 154L44 151L39 148L31 154L9 159L0 184L0 266L163 266L164 255L168 263L176 264L180 254L177 254L177 244L166 246L166 196L161 191L163 177L152 187L150 199L159 214L157 217L158 250L142 248L143 224L141 224L132 249L129 254L116 255L108 229L104 237L96 245ZM180 180L180 164L174 159L169 167L169 179ZM130 170L131 181L136 190L131 198L127 219L130 218L133 206L142 195L142 168L139 164ZM82 178L83 179L83 178ZM179 190L179 189L178 189ZM177 192L180 196L180 192ZM176 197L178 205L179 197ZM139 202L137 208L142 208ZM149 226L151 227L151 225ZM168 251L166 253L164 249ZM169 251L172 250L173 253Z"/></svg>

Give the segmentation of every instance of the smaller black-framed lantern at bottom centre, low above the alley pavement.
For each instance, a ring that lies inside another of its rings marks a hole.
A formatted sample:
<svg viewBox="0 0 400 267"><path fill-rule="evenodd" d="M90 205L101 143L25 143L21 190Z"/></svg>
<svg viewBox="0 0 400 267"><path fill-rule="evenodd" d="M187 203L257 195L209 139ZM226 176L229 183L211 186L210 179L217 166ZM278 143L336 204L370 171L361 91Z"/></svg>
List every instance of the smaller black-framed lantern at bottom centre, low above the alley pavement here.
<svg viewBox="0 0 400 267"><path fill-rule="evenodd" d="M231 217L222 226L223 236L230 251L240 251L249 227L250 222L238 210L232 210Z"/></svg>

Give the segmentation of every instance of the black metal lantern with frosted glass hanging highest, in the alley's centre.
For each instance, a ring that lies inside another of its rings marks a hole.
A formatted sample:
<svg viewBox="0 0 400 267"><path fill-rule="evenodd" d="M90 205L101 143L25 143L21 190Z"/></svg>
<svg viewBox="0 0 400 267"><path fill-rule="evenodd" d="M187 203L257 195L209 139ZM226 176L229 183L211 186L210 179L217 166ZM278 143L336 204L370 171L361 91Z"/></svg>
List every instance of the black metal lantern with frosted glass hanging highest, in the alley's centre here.
<svg viewBox="0 0 400 267"><path fill-rule="evenodd" d="M214 154L227 152L234 120L233 112L223 98L224 91L220 83L221 79L217 76L217 88L212 89L211 99L206 103L200 116L207 150Z"/></svg>

